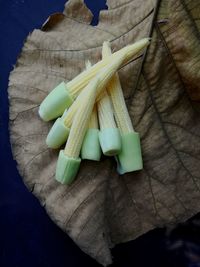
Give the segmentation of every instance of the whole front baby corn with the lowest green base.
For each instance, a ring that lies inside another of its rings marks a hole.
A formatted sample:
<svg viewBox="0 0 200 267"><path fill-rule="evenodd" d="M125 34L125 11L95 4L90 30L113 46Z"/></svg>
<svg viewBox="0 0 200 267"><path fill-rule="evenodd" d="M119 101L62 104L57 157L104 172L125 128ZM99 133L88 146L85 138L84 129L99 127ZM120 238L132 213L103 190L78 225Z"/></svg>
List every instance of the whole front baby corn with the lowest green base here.
<svg viewBox="0 0 200 267"><path fill-rule="evenodd" d="M74 117L65 149L59 153L56 180L62 184L71 184L79 170L80 150L94 107L97 84L98 78L94 78L85 88L85 98Z"/></svg>

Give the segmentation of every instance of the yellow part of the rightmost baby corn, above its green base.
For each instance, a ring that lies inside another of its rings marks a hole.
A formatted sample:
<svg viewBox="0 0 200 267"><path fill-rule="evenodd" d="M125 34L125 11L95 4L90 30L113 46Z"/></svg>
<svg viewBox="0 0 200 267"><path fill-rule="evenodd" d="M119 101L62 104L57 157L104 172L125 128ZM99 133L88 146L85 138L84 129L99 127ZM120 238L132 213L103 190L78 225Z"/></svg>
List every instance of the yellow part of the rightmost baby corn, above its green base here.
<svg viewBox="0 0 200 267"><path fill-rule="evenodd" d="M111 48L109 42L103 43L105 56L111 55ZM133 132L133 125L126 107L123 91L121 88L119 75L115 73L113 78L109 82L107 89L109 91L112 104L114 107L114 114L117 121L117 125L121 133Z"/></svg>

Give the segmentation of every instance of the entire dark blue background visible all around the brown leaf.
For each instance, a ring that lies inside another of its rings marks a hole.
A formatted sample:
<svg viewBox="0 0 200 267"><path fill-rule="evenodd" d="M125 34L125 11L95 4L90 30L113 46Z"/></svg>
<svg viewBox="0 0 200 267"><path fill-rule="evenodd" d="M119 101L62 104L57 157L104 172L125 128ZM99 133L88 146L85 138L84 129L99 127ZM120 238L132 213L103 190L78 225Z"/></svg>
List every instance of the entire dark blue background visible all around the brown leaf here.
<svg viewBox="0 0 200 267"><path fill-rule="evenodd" d="M50 14L62 12L64 3L65 0L0 0L0 267L100 266L49 219L28 192L16 169L9 142L9 72L28 33L40 28ZM94 14L95 25L99 10L106 9L105 1L87 0L86 4ZM112 250L113 266L199 266L189 264L183 246L171 248L173 240L185 238L184 227L190 229L183 226L184 230L178 234L175 230L169 236L165 229L158 229L116 246Z"/></svg>

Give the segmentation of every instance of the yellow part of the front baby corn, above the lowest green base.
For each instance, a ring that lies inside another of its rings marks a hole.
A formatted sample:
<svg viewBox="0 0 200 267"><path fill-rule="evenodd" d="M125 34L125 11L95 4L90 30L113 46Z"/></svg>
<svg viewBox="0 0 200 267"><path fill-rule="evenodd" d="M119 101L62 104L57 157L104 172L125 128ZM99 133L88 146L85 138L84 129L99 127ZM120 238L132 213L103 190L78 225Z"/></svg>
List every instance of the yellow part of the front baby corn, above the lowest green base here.
<svg viewBox="0 0 200 267"><path fill-rule="evenodd" d="M84 89L85 95L77 110L69 137L64 149L64 154L70 158L78 158L82 146L82 142L88 128L89 119L95 103L98 78L94 78Z"/></svg>

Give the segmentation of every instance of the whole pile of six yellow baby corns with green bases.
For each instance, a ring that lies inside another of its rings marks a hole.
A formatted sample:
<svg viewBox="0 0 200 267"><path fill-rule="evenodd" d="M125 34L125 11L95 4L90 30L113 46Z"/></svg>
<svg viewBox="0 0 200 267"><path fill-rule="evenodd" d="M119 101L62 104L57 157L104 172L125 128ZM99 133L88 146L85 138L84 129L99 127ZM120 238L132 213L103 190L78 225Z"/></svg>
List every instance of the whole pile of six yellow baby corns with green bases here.
<svg viewBox="0 0 200 267"><path fill-rule="evenodd" d="M62 82L43 100L39 115L44 121L57 118L46 139L60 150L56 180L71 184L81 159L99 161L101 154L114 156L120 174L143 167L139 134L134 131L117 70L149 44L144 38L112 54L104 42L102 60L73 80Z"/></svg>

